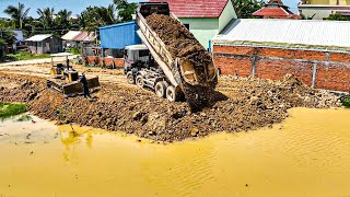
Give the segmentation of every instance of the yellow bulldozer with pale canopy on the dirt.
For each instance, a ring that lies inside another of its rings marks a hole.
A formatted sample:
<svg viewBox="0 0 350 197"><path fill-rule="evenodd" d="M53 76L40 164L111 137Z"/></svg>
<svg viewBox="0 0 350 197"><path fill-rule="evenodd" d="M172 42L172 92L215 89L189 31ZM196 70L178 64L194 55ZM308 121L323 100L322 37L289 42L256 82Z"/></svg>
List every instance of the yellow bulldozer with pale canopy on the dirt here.
<svg viewBox="0 0 350 197"><path fill-rule="evenodd" d="M79 73L72 67L69 66L68 56L71 54L62 53L51 55L51 70L50 74L52 78L47 79L47 88L61 92L65 96L74 96L83 93L82 84L79 81ZM66 57L67 65L57 63L54 66L54 57ZM100 86L98 77L88 77L89 89L94 89Z"/></svg>

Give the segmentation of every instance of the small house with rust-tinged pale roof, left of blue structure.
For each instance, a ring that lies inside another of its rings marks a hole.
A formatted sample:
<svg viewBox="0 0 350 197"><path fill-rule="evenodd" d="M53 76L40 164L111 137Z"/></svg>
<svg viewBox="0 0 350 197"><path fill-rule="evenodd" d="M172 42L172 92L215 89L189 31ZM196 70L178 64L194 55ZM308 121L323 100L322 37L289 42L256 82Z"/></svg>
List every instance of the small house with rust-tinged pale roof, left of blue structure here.
<svg viewBox="0 0 350 197"><path fill-rule="evenodd" d="M69 31L62 37L66 47L82 46L82 44L92 44L95 40L94 32Z"/></svg>

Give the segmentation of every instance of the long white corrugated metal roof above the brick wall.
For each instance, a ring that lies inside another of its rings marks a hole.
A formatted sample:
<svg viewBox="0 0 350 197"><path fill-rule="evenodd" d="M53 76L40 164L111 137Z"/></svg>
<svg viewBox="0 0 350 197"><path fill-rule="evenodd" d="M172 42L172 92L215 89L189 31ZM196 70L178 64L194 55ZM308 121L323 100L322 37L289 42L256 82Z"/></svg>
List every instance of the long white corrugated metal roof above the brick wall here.
<svg viewBox="0 0 350 197"><path fill-rule="evenodd" d="M340 21L241 19L232 21L213 44L258 43L268 45L350 48L350 23Z"/></svg>

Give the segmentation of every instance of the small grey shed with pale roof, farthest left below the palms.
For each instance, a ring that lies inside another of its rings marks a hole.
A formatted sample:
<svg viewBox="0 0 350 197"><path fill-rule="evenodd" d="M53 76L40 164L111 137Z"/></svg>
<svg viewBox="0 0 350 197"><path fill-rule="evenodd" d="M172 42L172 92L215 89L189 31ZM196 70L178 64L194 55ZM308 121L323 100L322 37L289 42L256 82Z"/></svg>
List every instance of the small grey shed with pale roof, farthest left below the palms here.
<svg viewBox="0 0 350 197"><path fill-rule="evenodd" d="M63 51L62 39L52 34L35 35L25 42L33 54L56 54Z"/></svg>

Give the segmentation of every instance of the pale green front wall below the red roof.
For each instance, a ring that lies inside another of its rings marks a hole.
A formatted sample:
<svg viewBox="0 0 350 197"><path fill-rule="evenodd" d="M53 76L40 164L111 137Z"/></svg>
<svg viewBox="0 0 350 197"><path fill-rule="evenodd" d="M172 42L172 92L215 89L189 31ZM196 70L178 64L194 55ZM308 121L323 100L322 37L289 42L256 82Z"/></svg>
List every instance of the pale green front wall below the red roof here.
<svg viewBox="0 0 350 197"><path fill-rule="evenodd" d="M189 24L189 31L205 47L209 48L209 40L219 34L218 18L179 18L183 24Z"/></svg>

